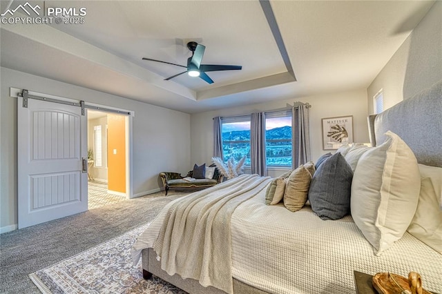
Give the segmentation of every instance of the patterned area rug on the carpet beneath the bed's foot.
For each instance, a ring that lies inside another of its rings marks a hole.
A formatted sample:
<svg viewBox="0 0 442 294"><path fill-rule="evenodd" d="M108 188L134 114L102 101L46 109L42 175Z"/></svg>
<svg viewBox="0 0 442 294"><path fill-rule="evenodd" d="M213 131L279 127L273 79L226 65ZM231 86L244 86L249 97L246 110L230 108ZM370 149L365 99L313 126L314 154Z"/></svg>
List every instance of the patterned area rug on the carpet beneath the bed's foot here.
<svg viewBox="0 0 442 294"><path fill-rule="evenodd" d="M133 266L131 247L148 225L111 239L29 275L42 293L185 294L153 277L144 280L141 261Z"/></svg>

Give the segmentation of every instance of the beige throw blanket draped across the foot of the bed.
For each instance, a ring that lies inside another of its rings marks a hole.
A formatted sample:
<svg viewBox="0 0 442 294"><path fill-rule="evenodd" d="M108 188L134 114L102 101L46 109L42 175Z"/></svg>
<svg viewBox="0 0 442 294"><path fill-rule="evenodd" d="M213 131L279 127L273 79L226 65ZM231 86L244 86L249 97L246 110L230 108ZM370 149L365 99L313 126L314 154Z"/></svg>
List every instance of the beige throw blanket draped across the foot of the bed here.
<svg viewBox="0 0 442 294"><path fill-rule="evenodd" d="M162 269L233 293L231 215L270 180L241 175L173 203L154 244Z"/></svg>

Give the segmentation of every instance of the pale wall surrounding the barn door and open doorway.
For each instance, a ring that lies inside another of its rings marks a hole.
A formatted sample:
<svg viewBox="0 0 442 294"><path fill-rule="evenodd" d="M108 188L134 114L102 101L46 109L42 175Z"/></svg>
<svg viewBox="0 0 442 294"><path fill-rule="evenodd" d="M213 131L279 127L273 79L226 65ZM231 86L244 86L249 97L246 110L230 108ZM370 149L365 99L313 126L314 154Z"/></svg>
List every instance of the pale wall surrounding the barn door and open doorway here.
<svg viewBox="0 0 442 294"><path fill-rule="evenodd" d="M89 103L135 111L133 117L133 194L158 190L164 170L190 166L190 115L71 84L1 68L0 229L17 225L17 98L9 88L25 88Z"/></svg>

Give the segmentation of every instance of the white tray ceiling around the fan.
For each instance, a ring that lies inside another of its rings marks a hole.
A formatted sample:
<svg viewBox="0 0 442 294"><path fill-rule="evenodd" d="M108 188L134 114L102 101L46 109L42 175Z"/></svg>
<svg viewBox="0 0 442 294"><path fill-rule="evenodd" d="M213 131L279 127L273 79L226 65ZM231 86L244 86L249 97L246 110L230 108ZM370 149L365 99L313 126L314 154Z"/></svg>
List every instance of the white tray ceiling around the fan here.
<svg viewBox="0 0 442 294"><path fill-rule="evenodd" d="M259 1L29 2L84 7L85 23L2 24L1 66L189 113L367 88L434 3L272 0L295 81ZM242 70L164 81L184 68L142 60L185 66L188 41Z"/></svg>

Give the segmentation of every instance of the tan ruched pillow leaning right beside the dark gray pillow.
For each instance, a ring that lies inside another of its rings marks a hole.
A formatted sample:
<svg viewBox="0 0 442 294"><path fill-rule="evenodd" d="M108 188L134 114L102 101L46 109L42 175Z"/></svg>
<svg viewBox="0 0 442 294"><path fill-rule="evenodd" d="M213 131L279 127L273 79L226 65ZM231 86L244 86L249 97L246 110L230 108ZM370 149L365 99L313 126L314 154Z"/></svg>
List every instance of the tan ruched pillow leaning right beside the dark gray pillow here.
<svg viewBox="0 0 442 294"><path fill-rule="evenodd" d="M307 202L314 165L301 165L287 179L284 193L284 206L290 211L300 210Z"/></svg>

